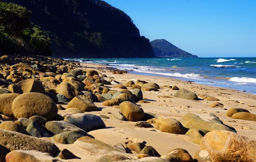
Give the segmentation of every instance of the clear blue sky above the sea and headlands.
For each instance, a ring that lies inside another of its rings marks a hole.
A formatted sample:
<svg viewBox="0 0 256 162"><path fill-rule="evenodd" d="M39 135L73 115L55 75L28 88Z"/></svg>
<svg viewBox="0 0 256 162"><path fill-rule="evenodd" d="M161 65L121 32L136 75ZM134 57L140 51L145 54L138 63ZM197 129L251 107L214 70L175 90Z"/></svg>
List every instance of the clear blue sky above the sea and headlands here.
<svg viewBox="0 0 256 162"><path fill-rule="evenodd" d="M149 40L198 57L256 57L256 0L105 0Z"/></svg>

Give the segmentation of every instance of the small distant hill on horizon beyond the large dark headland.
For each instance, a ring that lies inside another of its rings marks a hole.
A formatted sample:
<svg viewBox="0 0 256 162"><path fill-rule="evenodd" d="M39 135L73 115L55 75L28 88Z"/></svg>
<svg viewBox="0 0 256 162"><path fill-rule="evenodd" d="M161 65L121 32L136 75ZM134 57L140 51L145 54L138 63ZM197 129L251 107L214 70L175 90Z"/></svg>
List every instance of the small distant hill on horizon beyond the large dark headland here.
<svg viewBox="0 0 256 162"><path fill-rule="evenodd" d="M177 48L167 40L153 40L150 42L157 57L197 57L180 48Z"/></svg>

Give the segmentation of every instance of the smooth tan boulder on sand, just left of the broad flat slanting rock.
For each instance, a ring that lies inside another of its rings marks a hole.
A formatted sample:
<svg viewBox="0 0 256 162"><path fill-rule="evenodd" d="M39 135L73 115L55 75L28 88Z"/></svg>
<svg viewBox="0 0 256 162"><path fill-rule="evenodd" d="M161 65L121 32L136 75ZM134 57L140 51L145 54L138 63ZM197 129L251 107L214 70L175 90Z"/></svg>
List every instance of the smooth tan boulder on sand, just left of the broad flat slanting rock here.
<svg viewBox="0 0 256 162"><path fill-rule="evenodd" d="M155 129L171 134L186 134L186 129L176 119L161 116L155 121Z"/></svg>

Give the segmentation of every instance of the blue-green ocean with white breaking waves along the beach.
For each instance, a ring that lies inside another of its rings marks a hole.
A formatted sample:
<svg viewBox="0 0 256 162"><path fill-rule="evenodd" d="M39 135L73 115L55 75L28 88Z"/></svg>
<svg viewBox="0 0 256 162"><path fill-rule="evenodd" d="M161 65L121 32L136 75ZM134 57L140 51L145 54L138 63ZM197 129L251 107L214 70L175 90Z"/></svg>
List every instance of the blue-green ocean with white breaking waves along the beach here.
<svg viewBox="0 0 256 162"><path fill-rule="evenodd" d="M256 94L256 57L69 59ZM90 60L90 61L88 61Z"/></svg>

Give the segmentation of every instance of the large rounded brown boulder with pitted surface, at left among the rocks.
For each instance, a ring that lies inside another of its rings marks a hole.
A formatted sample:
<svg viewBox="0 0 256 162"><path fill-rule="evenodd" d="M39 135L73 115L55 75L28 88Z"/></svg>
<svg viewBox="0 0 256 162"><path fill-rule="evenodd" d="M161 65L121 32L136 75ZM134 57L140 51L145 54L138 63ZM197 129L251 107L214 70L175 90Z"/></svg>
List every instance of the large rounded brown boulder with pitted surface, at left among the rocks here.
<svg viewBox="0 0 256 162"><path fill-rule="evenodd" d="M12 111L17 119L39 115L51 120L57 115L58 108L55 102L47 95L29 92L20 94L13 100Z"/></svg>

